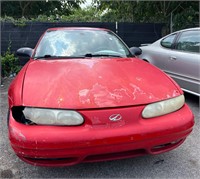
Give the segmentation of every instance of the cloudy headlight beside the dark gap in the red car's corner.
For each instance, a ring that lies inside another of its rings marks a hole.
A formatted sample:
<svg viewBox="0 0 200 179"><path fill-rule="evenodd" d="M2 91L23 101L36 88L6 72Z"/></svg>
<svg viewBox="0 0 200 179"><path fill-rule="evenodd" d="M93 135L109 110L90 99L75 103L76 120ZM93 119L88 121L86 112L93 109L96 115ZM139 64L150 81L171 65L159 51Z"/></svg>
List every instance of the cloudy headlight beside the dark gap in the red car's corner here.
<svg viewBox="0 0 200 179"><path fill-rule="evenodd" d="M42 125L80 125L83 117L72 110L42 109L25 107L23 110L26 119Z"/></svg>

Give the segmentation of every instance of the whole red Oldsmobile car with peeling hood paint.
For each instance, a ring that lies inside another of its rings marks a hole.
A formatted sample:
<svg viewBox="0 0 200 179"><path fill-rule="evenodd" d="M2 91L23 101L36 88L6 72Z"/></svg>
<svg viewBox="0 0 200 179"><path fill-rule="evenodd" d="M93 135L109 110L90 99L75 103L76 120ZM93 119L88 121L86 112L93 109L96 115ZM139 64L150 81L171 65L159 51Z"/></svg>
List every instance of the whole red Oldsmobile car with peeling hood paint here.
<svg viewBox="0 0 200 179"><path fill-rule="evenodd" d="M68 166L170 151L194 117L180 87L112 31L51 28L9 87L9 138L16 155Z"/></svg>

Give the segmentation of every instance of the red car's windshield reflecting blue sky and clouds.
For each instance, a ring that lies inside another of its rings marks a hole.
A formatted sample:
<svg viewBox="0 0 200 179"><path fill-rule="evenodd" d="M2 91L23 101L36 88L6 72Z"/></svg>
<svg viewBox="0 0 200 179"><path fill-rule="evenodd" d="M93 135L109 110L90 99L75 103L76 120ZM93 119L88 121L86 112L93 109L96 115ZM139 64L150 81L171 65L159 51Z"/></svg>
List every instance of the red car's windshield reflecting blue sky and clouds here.
<svg viewBox="0 0 200 179"><path fill-rule="evenodd" d="M127 46L112 32L92 29L47 31L34 58L130 57Z"/></svg>

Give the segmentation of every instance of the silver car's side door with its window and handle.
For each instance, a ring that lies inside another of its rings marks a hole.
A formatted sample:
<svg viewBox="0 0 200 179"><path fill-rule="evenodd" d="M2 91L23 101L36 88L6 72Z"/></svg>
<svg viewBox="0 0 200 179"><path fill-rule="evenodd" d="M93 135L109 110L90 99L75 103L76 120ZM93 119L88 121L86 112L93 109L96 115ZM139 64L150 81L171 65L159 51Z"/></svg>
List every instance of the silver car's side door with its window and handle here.
<svg viewBox="0 0 200 179"><path fill-rule="evenodd" d="M161 42L162 43L162 42ZM189 92L199 93L200 30L183 31L168 54L165 72Z"/></svg>

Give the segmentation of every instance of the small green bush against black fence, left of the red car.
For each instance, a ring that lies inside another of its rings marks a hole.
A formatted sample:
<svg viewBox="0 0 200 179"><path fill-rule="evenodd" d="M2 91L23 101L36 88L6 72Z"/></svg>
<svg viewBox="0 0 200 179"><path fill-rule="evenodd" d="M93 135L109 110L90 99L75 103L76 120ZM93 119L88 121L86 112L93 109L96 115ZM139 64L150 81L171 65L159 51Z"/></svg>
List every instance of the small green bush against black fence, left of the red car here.
<svg viewBox="0 0 200 179"><path fill-rule="evenodd" d="M19 65L19 59L11 53L10 45L5 54L0 56L0 59L2 77L15 76L20 71L21 66Z"/></svg>

